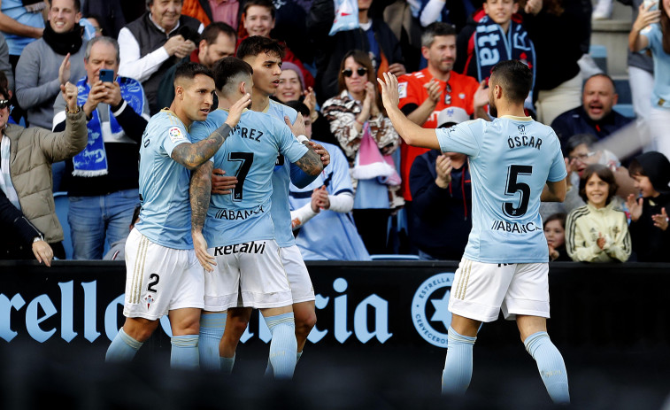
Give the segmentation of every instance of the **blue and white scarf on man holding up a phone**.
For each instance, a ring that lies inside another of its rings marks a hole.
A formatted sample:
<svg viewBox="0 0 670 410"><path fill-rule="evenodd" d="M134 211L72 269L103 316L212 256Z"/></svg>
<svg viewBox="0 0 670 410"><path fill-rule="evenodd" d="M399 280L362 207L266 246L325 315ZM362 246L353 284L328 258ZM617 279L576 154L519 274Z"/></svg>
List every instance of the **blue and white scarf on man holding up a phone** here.
<svg viewBox="0 0 670 410"><path fill-rule="evenodd" d="M127 77L117 77L117 82L121 87L121 97L126 101L135 112L142 113L144 109L144 96L142 85L139 81ZM79 93L77 104L83 106L89 99L89 78L84 77L77 82ZM110 128L112 135L123 133L123 128L119 126L116 118L112 115L112 107L108 105L108 114L110 119ZM91 120L86 128L89 130L89 143L86 144L84 151L73 158L73 176L100 176L107 174L107 154L104 151L104 138L100 116L96 110L92 112Z"/></svg>

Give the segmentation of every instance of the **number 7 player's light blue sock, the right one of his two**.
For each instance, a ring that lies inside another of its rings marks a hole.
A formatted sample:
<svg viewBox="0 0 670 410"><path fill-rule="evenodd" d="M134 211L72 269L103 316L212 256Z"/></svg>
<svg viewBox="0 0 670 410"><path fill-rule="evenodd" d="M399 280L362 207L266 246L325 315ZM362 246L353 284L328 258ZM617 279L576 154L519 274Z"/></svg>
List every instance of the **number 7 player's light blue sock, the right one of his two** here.
<svg viewBox="0 0 670 410"><path fill-rule="evenodd" d="M296 322L293 313L266 317L268 329L273 334L270 342L270 363L274 378L291 378L296 369Z"/></svg>

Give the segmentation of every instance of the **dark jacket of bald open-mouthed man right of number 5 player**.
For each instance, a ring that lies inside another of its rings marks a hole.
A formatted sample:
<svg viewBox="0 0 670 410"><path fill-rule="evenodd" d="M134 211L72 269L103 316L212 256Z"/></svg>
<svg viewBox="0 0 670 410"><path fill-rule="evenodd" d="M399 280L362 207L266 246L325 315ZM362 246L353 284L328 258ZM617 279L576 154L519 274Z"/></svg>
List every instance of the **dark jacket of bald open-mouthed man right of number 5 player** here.
<svg viewBox="0 0 670 410"><path fill-rule="evenodd" d="M628 117L624 117L613 110L601 120L594 121L590 119L589 114L580 105L558 115L551 122L551 128L554 128L554 132L558 135L561 147L565 148L567 140L573 135L590 134L601 140L628 125L631 121Z"/></svg>

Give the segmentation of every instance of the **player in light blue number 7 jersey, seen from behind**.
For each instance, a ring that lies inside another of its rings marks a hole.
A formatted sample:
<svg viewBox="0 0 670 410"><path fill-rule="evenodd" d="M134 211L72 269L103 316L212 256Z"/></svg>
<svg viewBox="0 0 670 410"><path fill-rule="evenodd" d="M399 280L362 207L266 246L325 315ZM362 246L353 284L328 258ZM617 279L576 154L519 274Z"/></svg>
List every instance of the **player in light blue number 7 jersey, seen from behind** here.
<svg viewBox="0 0 670 410"><path fill-rule="evenodd" d="M224 123L228 116L224 110L251 88L251 73L251 66L239 58L223 58L214 66L222 109L194 124L194 140ZM223 313L237 307L238 298L242 306L260 309L273 335L270 362L274 376L291 377L297 351L293 298L270 216L271 177L280 154L306 174L317 176L323 170L319 154L299 143L283 121L259 112L243 112L228 142L193 175L192 235L196 256L205 270L217 267L214 274L205 275L204 310ZM210 195L214 166L235 174L232 195Z"/></svg>

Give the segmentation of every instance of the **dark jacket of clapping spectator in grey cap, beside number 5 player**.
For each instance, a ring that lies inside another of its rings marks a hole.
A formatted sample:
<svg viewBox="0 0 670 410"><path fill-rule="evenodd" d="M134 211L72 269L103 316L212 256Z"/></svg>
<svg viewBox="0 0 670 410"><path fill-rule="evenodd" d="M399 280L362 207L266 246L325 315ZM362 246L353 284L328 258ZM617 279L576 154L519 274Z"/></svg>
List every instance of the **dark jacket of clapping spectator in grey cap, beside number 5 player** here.
<svg viewBox="0 0 670 410"><path fill-rule="evenodd" d="M451 183L443 190L435 184L438 155L439 151L427 151L412 164L410 240L435 259L460 260L473 227L470 169L467 161L460 169L452 169Z"/></svg>

